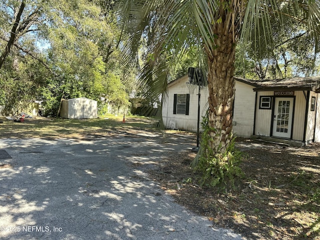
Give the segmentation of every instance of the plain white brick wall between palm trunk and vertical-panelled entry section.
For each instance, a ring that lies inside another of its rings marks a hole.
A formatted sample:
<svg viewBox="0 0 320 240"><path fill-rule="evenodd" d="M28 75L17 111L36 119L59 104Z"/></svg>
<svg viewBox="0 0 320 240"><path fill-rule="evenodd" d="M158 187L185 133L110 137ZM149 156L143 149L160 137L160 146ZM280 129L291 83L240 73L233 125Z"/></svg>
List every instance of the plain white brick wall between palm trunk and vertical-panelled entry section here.
<svg viewBox="0 0 320 240"><path fill-rule="evenodd" d="M236 136L253 134L255 92L253 86L235 81L232 129Z"/></svg>

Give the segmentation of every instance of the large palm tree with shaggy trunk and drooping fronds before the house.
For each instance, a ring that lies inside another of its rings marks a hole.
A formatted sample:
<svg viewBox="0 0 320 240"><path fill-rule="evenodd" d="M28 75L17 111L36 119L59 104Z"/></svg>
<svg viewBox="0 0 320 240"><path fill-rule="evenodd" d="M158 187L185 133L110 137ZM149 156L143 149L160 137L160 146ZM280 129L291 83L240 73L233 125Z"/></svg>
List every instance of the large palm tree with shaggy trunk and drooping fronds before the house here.
<svg viewBox="0 0 320 240"><path fill-rule="evenodd" d="M166 101L167 82L180 74L184 62L208 73L208 127L198 165L210 185L229 181L232 185L239 174L232 143L233 76L314 74L320 50L320 1L116 3L119 25L127 39L123 59L129 66L140 66L139 80L146 97L161 95L162 102Z"/></svg>

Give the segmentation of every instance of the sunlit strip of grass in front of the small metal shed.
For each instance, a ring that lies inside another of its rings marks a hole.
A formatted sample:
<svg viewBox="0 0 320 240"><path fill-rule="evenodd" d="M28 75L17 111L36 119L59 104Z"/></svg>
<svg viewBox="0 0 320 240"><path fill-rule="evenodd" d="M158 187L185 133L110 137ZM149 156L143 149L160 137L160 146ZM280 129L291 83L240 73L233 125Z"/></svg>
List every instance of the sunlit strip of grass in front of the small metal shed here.
<svg viewBox="0 0 320 240"><path fill-rule="evenodd" d="M16 122L0 118L1 138L26 137L83 137L85 135L106 136L114 131L130 132L134 130L153 131L152 119L147 117L113 116L94 119L63 119L63 118L25 118L24 122Z"/></svg>

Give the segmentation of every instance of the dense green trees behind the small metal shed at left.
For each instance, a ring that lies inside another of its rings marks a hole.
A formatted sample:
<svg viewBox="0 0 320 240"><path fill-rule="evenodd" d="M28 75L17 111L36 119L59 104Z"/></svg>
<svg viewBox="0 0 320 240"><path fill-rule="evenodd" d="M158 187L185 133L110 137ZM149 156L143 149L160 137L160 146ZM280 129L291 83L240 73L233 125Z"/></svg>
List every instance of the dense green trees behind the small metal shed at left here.
<svg viewBox="0 0 320 240"><path fill-rule="evenodd" d="M2 114L38 100L42 113L56 115L61 97L97 100L100 112L127 111L135 77L119 63L112 8L111 0L0 1L0 54L23 10L0 67Z"/></svg>

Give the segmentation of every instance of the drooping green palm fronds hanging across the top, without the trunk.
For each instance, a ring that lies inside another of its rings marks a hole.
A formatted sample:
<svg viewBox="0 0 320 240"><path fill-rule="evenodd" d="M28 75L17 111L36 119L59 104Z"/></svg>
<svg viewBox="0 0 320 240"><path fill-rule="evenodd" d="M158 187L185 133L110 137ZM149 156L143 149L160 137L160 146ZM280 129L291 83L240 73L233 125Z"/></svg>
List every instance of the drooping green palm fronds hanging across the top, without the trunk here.
<svg viewBox="0 0 320 240"><path fill-rule="evenodd" d="M288 33L306 31L319 50L319 0L118 0L118 23L125 32L123 62L138 67L146 96L165 101L168 72L197 46L198 65L216 49L216 27L232 31L233 42L249 42L260 59L279 70L274 46ZM223 14L222 14L223 13ZM221 16L225 19L221 19ZM244 55L245 48L243 48Z"/></svg>

